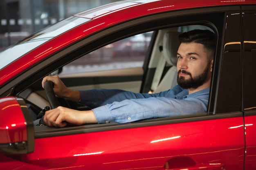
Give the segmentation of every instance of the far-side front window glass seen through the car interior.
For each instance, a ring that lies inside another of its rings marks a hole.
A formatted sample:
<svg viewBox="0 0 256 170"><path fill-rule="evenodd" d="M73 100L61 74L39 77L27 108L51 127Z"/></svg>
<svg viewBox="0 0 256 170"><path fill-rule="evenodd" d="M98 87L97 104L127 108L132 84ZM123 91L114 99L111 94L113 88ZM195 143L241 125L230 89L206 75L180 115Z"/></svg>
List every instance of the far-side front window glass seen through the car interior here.
<svg viewBox="0 0 256 170"><path fill-rule="evenodd" d="M142 67L153 32L101 47L63 67L61 75Z"/></svg>

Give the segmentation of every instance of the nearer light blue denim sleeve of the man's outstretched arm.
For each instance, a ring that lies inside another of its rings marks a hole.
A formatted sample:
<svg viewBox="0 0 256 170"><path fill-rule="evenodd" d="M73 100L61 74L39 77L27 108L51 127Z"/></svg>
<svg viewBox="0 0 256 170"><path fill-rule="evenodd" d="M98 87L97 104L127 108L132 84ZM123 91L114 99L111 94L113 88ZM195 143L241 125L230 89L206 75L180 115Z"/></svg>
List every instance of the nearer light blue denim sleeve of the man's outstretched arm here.
<svg viewBox="0 0 256 170"><path fill-rule="evenodd" d="M150 97L148 99L129 99L113 102L92 110L99 124L128 123L141 119L204 113L207 110L207 104L207 99L195 97L186 99Z"/></svg>

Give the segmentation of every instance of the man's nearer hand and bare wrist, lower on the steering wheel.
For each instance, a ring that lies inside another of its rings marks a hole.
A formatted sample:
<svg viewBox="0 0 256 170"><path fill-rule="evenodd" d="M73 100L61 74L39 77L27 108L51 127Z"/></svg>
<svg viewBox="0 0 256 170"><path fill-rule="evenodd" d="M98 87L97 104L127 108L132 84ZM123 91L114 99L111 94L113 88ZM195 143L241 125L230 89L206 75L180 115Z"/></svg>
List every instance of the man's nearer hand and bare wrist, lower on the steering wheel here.
<svg viewBox="0 0 256 170"><path fill-rule="evenodd" d="M44 119L47 126L65 127L67 124L83 125L97 123L97 119L92 110L73 110L58 106L58 108L45 112Z"/></svg>

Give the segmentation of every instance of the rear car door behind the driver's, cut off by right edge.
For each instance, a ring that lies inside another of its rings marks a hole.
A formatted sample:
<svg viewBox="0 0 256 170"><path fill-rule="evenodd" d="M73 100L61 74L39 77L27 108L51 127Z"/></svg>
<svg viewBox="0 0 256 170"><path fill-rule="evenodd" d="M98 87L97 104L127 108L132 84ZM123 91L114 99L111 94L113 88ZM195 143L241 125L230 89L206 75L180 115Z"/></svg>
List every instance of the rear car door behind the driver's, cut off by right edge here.
<svg viewBox="0 0 256 170"><path fill-rule="evenodd" d="M256 33L252 24L256 22L256 7L243 7L243 47L244 47L244 114L245 114L245 170L255 169L256 160L256 99L255 69Z"/></svg>

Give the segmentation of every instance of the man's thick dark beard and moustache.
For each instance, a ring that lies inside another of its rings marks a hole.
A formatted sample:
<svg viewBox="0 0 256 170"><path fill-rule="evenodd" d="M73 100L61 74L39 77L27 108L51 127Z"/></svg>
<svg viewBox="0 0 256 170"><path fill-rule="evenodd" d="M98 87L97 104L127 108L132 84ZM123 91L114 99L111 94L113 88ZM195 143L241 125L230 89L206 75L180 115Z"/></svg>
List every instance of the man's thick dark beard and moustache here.
<svg viewBox="0 0 256 170"><path fill-rule="evenodd" d="M198 88L199 86L202 86L206 80L207 80L207 75L209 72L210 68L210 62L207 64L206 68L204 71L200 74L195 76L194 78L192 77L191 73L184 71L184 70L179 70L178 75L177 75L177 83L181 88ZM179 77L179 73L185 73L190 76L190 79L185 79L185 77Z"/></svg>

